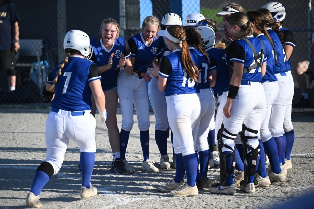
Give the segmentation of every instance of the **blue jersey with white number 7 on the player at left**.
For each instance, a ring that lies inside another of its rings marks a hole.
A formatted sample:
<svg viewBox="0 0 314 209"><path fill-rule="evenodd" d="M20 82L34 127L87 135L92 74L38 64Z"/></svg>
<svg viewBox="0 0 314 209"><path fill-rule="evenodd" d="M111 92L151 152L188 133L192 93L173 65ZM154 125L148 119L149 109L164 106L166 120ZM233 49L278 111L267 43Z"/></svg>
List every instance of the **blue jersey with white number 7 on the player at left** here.
<svg viewBox="0 0 314 209"><path fill-rule="evenodd" d="M58 65L53 70L53 79L56 77ZM92 110L89 83L97 79L101 79L101 76L94 63L81 57L69 57L55 85L55 97L51 107L66 111Z"/></svg>

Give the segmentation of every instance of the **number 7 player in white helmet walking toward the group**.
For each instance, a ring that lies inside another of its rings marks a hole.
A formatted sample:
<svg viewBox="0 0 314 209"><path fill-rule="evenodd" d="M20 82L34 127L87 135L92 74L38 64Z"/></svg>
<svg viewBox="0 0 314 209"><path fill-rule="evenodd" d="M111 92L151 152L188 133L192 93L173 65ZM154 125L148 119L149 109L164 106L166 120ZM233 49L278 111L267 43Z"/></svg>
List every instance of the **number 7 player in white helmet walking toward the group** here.
<svg viewBox="0 0 314 209"><path fill-rule="evenodd" d="M53 70L53 82L48 82L43 96L54 99L46 121L47 154L38 166L33 185L26 197L29 207L41 207L39 194L49 179L57 174L64 160L64 154L73 140L80 147L80 168L82 176L81 198L97 194L90 183L95 162L96 120L90 114L91 96L106 119L105 96L101 89L100 73L95 64L87 61L92 53L88 35L80 30L71 30L64 37L64 50L67 53L63 62Z"/></svg>

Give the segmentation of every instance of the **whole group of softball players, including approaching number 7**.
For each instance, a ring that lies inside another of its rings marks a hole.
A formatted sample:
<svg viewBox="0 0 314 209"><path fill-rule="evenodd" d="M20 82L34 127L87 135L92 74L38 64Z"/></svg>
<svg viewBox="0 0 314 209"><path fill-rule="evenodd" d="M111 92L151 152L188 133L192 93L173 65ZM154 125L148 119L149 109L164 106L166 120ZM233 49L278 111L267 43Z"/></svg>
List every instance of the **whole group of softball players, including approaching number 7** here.
<svg viewBox="0 0 314 209"><path fill-rule="evenodd" d="M216 14L224 22L223 37L217 22L200 13L189 14L185 24L175 13L165 14L161 21L148 16L128 41L119 37L119 24L112 18L103 20L98 36L91 39L80 30L69 31L64 38L66 57L48 76L42 92L42 100L51 102L47 154L36 170L26 205L42 206L40 192L59 172L70 139L80 148L80 196L97 194L90 182L96 109L108 129L110 171L135 172L126 159L134 106L141 169L159 172L149 159L149 101L160 169L170 168L168 138L176 169L174 178L158 187L160 192L196 196L204 188L217 194L234 194L239 188L251 193L285 181L294 142L289 60L295 47L292 32L283 27L285 15L278 2L246 13L230 3ZM210 185L207 174L214 166L220 167L220 183Z"/></svg>

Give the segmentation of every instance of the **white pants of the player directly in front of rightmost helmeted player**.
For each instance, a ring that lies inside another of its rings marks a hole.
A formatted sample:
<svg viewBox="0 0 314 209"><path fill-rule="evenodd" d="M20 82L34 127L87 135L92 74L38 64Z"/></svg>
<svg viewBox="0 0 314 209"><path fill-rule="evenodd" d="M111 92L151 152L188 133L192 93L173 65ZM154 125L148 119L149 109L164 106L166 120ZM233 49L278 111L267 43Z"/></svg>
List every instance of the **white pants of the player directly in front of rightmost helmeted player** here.
<svg viewBox="0 0 314 209"><path fill-rule="evenodd" d="M291 80L286 72L277 73L275 76L277 77L279 91L272 105L269 129L273 137L280 137L285 133L283 124L294 87L292 87Z"/></svg>

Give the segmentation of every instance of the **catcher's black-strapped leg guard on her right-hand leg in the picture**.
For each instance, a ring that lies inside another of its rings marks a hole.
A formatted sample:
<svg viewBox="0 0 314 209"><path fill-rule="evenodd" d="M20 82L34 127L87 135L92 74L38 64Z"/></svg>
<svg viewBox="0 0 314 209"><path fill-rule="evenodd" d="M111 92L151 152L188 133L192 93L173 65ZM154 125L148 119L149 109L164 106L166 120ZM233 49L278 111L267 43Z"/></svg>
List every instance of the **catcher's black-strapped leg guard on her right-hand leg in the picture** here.
<svg viewBox="0 0 314 209"><path fill-rule="evenodd" d="M256 136L253 136L253 137L245 136L244 134L245 131L254 133L256 134ZM241 131L240 136L241 136L241 142L244 149L243 150L244 185L248 184L249 176L255 176L257 174L260 167L260 162L258 162L258 156L260 155L260 145L258 145L256 148L253 148L247 143L248 139L255 139L255 138L257 139L257 133L258 133L258 130L247 128L245 124L242 124L242 131ZM248 164L247 158L252 159L252 162L250 163L250 165ZM258 165L257 169L256 169L256 165Z"/></svg>

